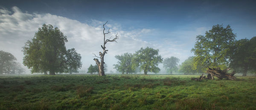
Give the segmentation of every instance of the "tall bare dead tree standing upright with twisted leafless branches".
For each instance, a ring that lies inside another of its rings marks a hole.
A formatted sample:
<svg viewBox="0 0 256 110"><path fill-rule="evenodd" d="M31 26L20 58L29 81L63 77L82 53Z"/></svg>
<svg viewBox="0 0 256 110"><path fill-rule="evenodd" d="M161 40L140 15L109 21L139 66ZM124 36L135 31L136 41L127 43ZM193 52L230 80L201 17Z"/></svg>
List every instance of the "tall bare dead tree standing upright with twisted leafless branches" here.
<svg viewBox="0 0 256 110"><path fill-rule="evenodd" d="M118 33L117 33L116 36L115 36L115 38L113 38L113 39L111 39L111 38L106 39L106 38L105 38L105 35L106 35L106 34L111 33L111 32L109 32L109 29L108 29L108 32L105 33L105 25L106 25L107 23L108 23L108 21L103 25L103 28L104 28L104 29L103 29L104 43L103 43L103 46L101 45L101 47L102 47L102 49L103 49L103 52L99 52L99 56L96 56L96 55L93 53L95 57L100 58L100 62L99 62L99 60L98 60L97 58L94 58L94 59L93 59L93 60L95 60L97 66L98 66L98 68L99 68L99 76L105 76L105 72L104 72L104 64L105 64L105 62L104 62L104 56L105 56L105 54L108 52L108 50L106 50L105 45L106 45L108 42L112 42L112 41L115 41L115 42L116 42L116 39L118 39L118 37L119 37L119 36L117 36L117 35L118 35Z"/></svg>

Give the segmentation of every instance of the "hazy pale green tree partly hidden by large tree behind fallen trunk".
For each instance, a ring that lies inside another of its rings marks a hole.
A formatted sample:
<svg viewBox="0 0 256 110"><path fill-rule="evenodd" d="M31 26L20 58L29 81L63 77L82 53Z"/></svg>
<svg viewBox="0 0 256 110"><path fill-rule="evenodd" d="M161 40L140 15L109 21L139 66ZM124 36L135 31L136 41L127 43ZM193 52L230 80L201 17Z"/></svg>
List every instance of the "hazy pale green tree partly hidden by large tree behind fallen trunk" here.
<svg viewBox="0 0 256 110"><path fill-rule="evenodd" d="M181 63L179 71L184 73L184 74L195 74L195 73L202 73L201 67L197 67L196 70L192 69L193 68L193 60L194 56L189 57L186 59L183 63Z"/></svg>

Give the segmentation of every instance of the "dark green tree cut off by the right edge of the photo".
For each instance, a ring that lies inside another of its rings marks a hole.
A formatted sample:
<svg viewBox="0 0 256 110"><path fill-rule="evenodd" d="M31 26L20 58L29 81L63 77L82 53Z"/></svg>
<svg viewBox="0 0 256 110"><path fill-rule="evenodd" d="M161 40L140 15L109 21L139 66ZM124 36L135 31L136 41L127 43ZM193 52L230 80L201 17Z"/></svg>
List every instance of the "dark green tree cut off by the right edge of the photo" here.
<svg viewBox="0 0 256 110"><path fill-rule="evenodd" d="M256 67L256 37L248 40L247 38L236 41L230 67L237 72L242 72L243 76L247 71L254 70Z"/></svg>

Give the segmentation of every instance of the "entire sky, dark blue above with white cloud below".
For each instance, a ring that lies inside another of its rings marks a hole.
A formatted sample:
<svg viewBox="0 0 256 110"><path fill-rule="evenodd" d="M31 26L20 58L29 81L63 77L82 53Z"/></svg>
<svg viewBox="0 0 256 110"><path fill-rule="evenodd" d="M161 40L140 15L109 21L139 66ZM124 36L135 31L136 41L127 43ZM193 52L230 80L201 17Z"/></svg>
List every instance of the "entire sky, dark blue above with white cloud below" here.
<svg viewBox="0 0 256 110"><path fill-rule="evenodd" d="M106 44L108 71L116 71L115 55L141 47L159 49L163 58L174 56L181 64L194 55L196 36L213 25L230 25L237 40L256 36L255 5L255 0L1 0L0 50L22 63L24 43L51 24L67 36L67 49L81 54L81 70L87 71L95 64L93 53L102 51L102 25L108 21L107 38L119 35L117 43ZM163 64L159 67L164 72Z"/></svg>

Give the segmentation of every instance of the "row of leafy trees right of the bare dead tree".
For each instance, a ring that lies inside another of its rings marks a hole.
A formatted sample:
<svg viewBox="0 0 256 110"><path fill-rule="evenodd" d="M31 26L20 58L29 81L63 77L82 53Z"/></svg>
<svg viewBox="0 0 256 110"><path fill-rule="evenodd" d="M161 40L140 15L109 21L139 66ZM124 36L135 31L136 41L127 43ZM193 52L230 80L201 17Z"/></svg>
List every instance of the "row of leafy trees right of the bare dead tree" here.
<svg viewBox="0 0 256 110"><path fill-rule="evenodd" d="M136 73L138 68L144 71L144 74L158 73L160 69L157 66L163 62L163 67L168 73L172 74L178 70L178 58L172 56L163 60L158 52L159 50L146 47L134 54L116 55L118 62L113 65L114 69L122 74ZM186 59L180 65L179 72L204 73L208 68L231 68L233 71L242 72L243 76L246 76L247 71L256 72L256 36L250 40L236 40L236 34L230 25L214 25L211 30L206 31L205 36L196 36L191 52L194 52L195 56Z"/></svg>

